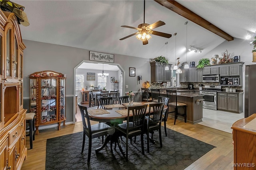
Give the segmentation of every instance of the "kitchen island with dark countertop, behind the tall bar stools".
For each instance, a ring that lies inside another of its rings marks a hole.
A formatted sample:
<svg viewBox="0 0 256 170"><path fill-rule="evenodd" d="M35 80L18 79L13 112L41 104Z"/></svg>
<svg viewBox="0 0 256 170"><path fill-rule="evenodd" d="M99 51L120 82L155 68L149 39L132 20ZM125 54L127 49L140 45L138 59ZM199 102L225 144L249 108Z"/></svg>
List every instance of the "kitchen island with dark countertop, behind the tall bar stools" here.
<svg viewBox="0 0 256 170"><path fill-rule="evenodd" d="M166 91L160 91L160 96L167 97ZM199 91L195 90L177 90L177 102L186 103L187 105L187 122L196 124L202 122L203 118L203 104L202 101L204 95L199 94ZM179 108L180 112L182 108ZM174 111L173 108L169 107L169 112ZM174 118L174 113L169 114L170 117ZM184 121L183 117L178 117L179 120Z"/></svg>

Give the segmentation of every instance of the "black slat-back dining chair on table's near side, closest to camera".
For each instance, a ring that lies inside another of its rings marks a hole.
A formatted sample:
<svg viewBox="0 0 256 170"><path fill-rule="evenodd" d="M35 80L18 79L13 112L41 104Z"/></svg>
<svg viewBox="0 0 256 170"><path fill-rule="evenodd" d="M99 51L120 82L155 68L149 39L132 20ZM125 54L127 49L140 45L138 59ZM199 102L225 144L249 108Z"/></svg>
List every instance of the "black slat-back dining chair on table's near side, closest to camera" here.
<svg viewBox="0 0 256 170"><path fill-rule="evenodd" d="M135 105L128 107L128 116L126 123L119 124L115 127L116 132L119 132L120 136L126 137L126 160L128 160L128 139L134 136L140 135L141 149L144 155L144 121L146 115L147 105ZM130 115L130 111L132 115ZM132 118L132 119L131 119ZM122 152L122 150L121 150Z"/></svg>

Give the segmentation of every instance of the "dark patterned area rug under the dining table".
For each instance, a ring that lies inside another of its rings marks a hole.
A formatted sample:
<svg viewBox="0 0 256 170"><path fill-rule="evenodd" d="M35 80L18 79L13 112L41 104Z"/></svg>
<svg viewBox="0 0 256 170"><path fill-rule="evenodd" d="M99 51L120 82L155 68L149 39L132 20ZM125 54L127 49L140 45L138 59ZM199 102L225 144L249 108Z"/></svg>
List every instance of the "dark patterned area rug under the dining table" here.
<svg viewBox="0 0 256 170"><path fill-rule="evenodd" d="M154 133L155 144L150 142L150 153L147 153L146 135L144 135L145 155L142 155L140 137L136 142L132 141L128 148L128 162L122 156L118 146L113 154L110 152L110 143L96 153L95 149L102 145L100 138L92 139L92 154L90 164L88 158L88 137L84 153L82 150L83 132L68 134L56 138L47 139L46 143L46 170L182 170L210 151L214 146L196 140L179 132L167 129L164 134L162 127L162 143L160 148L158 132ZM125 138L123 137L125 141ZM125 142L120 140L125 152Z"/></svg>

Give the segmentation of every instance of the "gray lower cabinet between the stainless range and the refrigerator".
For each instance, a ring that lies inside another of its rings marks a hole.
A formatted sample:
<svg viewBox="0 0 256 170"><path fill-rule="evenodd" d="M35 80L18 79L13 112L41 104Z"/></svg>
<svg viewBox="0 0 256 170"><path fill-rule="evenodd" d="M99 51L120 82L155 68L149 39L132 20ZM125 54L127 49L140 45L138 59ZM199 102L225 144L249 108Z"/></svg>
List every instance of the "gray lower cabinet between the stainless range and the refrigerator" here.
<svg viewBox="0 0 256 170"><path fill-rule="evenodd" d="M242 93L217 93L217 109L235 113L242 112Z"/></svg>

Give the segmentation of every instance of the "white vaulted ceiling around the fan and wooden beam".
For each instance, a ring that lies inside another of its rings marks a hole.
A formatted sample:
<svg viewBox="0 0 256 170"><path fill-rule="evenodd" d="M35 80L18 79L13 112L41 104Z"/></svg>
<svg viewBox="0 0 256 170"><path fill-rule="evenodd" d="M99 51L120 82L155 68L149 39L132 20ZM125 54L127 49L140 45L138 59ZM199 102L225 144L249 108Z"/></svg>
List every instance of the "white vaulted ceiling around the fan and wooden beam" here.
<svg viewBox="0 0 256 170"><path fill-rule="evenodd" d="M120 41L120 38L136 32L122 28L137 27L143 23L143 0L13 0L25 7L30 26L20 25L22 38L71 47L78 47L104 53L114 53L152 59L164 55L169 63L180 57L186 61L187 46L202 48L202 53L187 53L187 60L193 61L226 41L216 34L183 18L153 0L146 0L145 22L158 20L166 25L155 31L174 34L162 38L152 35L147 45L135 36ZM241 38L247 31L256 32L256 0L177 0L189 10L198 14L234 38ZM186 39L186 25L187 39ZM168 45L165 43L168 42Z"/></svg>

